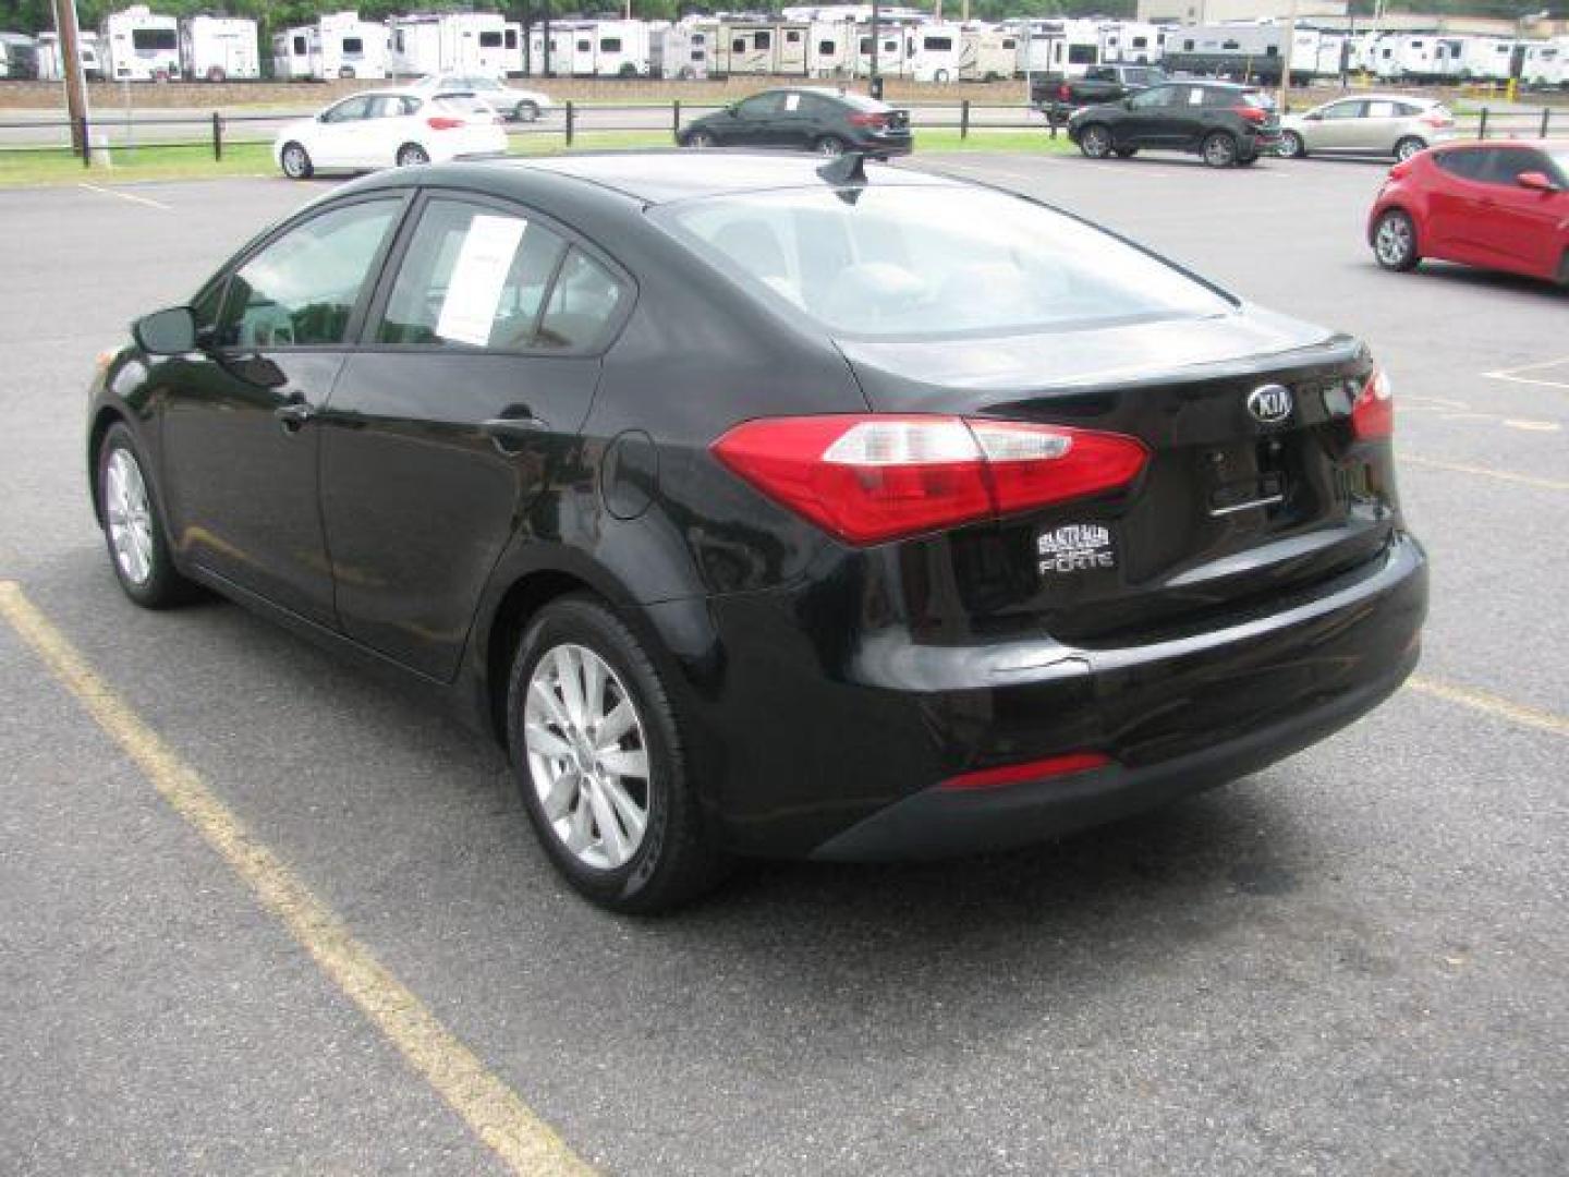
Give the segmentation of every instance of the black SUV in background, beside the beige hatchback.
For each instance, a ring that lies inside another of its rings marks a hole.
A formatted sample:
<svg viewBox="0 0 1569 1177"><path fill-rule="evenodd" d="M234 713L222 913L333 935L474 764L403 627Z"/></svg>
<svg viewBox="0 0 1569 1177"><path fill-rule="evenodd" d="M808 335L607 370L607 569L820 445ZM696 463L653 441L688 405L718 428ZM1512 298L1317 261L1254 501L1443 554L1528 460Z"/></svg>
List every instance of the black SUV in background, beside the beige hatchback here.
<svg viewBox="0 0 1569 1177"><path fill-rule="evenodd" d="M1185 151L1211 168L1257 163L1280 146L1274 100L1232 82L1167 82L1119 102L1083 107L1068 138L1094 160L1139 151Z"/></svg>

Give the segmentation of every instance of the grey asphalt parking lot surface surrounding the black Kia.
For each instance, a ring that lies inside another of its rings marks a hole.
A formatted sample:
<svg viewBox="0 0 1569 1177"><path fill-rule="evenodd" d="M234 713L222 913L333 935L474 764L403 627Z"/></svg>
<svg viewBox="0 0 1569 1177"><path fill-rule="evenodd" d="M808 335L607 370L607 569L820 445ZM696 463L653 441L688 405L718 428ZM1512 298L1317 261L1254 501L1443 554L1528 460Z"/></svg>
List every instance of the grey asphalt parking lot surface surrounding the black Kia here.
<svg viewBox="0 0 1569 1177"><path fill-rule="evenodd" d="M1378 270L1376 165L910 166L1371 344L1434 563L1420 678L1061 844L761 865L678 916L604 915L494 749L238 607L141 612L110 571L94 355L326 185L3 191L8 1171L501 1172L527 1114L617 1174L1569 1171L1569 298ZM215 852L212 821L254 841ZM345 981L347 942L383 971ZM400 1031L410 1003L439 1033Z"/></svg>

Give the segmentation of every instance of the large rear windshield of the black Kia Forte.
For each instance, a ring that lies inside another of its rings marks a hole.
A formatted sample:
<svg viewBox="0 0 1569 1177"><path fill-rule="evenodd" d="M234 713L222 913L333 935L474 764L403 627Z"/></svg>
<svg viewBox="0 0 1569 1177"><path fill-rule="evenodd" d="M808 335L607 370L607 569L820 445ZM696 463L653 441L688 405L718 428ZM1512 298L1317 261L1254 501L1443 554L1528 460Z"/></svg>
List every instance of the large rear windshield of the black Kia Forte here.
<svg viewBox="0 0 1569 1177"><path fill-rule="evenodd" d="M651 213L835 334L1004 334L1207 317L1232 303L1098 229L982 188L794 188Z"/></svg>

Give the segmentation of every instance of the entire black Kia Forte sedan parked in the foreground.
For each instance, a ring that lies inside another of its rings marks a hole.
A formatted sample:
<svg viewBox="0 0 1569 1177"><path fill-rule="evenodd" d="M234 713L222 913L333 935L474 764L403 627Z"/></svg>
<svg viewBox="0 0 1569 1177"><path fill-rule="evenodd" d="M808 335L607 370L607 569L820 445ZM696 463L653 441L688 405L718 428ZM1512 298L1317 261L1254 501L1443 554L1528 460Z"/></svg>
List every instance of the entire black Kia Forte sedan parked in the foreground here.
<svg viewBox="0 0 1569 1177"><path fill-rule="evenodd" d="M405 169L133 336L88 436L126 593L427 684L620 910L736 855L1108 821L1417 662L1367 348L1021 196L857 157Z"/></svg>

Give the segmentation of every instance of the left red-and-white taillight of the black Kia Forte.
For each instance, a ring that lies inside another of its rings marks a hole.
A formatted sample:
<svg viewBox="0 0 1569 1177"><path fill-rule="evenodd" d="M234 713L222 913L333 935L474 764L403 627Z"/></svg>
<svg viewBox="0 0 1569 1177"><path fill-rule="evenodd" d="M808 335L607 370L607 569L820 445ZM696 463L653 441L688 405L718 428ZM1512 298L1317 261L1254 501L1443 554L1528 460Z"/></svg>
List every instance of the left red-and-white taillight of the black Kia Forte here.
<svg viewBox="0 0 1569 1177"><path fill-rule="evenodd" d="M1120 433L938 416L748 421L714 454L855 545L1127 486L1147 458L1144 443Z"/></svg>

